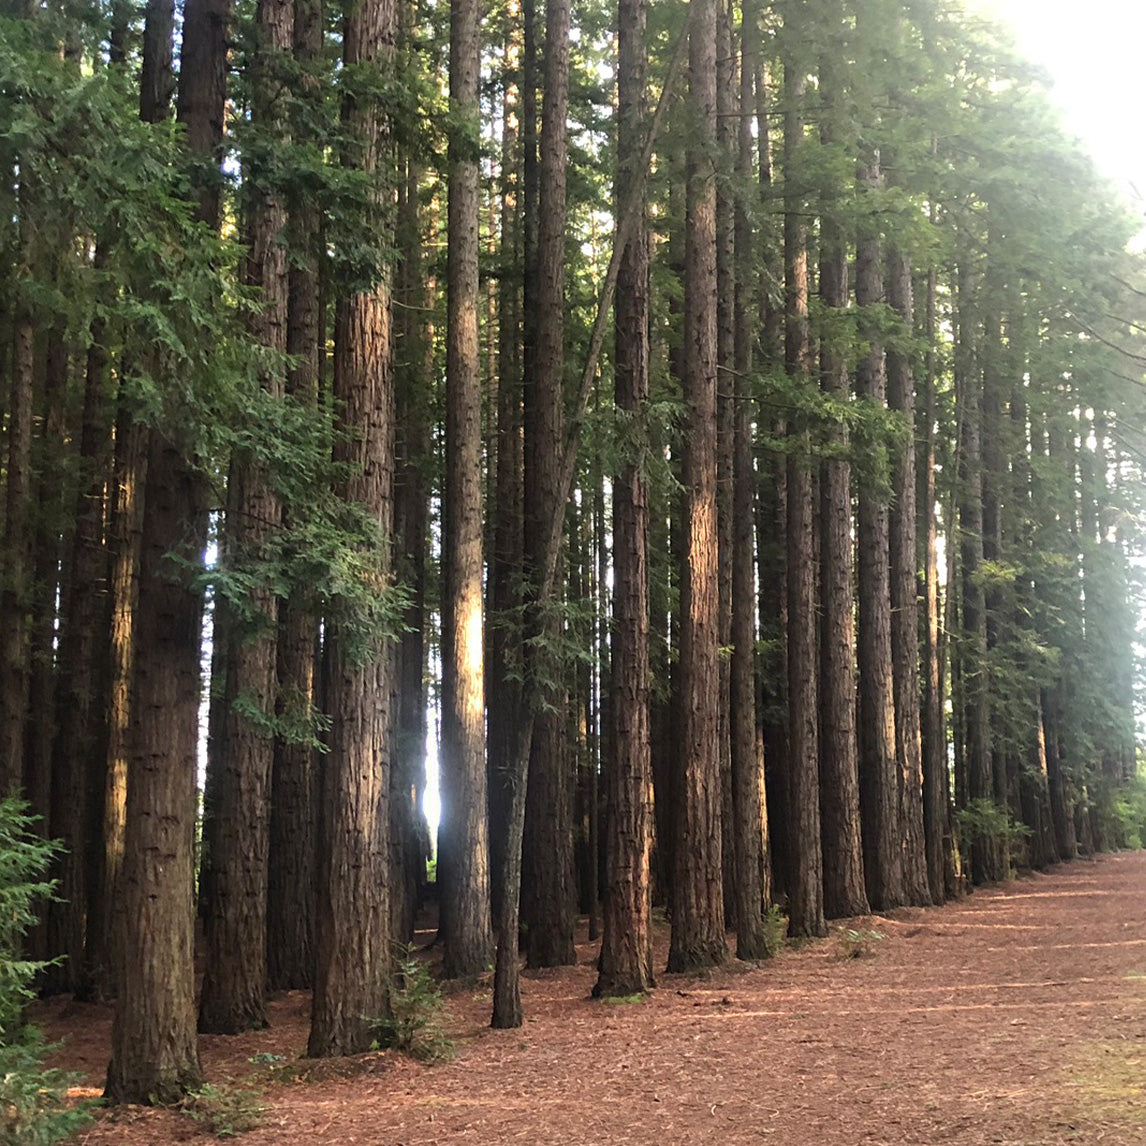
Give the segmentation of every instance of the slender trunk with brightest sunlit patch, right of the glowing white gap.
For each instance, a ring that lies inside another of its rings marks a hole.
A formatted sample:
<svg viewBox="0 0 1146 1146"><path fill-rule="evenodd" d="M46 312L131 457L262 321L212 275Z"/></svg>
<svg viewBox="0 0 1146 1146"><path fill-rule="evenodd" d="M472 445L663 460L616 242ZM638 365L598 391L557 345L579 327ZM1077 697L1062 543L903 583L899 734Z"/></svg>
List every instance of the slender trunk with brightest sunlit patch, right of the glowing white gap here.
<svg viewBox="0 0 1146 1146"><path fill-rule="evenodd" d="M453 0L449 34L449 248L439 882L448 979L493 955L486 819L481 602L481 376L478 348L481 65L476 0ZM446 862L448 859L448 863Z"/></svg>

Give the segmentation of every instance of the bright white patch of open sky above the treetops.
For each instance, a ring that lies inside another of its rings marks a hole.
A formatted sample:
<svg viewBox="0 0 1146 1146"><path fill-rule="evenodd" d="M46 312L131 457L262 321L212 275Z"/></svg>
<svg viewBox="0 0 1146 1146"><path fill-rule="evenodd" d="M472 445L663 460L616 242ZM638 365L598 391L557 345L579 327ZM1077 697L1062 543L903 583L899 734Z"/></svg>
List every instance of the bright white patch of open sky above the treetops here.
<svg viewBox="0 0 1146 1146"><path fill-rule="evenodd" d="M1146 214L1141 0L978 0L1054 79L1069 128Z"/></svg>

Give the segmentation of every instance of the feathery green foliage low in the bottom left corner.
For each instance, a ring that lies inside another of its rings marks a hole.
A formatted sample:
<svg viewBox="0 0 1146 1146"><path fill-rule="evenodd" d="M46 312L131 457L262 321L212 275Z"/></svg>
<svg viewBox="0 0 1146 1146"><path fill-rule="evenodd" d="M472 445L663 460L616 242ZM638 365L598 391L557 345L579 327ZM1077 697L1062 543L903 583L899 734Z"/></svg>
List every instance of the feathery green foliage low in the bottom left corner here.
<svg viewBox="0 0 1146 1146"><path fill-rule="evenodd" d="M36 903L52 895L44 872L57 851L33 824L25 804L0 800L0 1146L48 1146L88 1121L86 1108L68 1104L68 1075L44 1066L52 1047L23 1021L44 964L22 958L21 948Z"/></svg>

